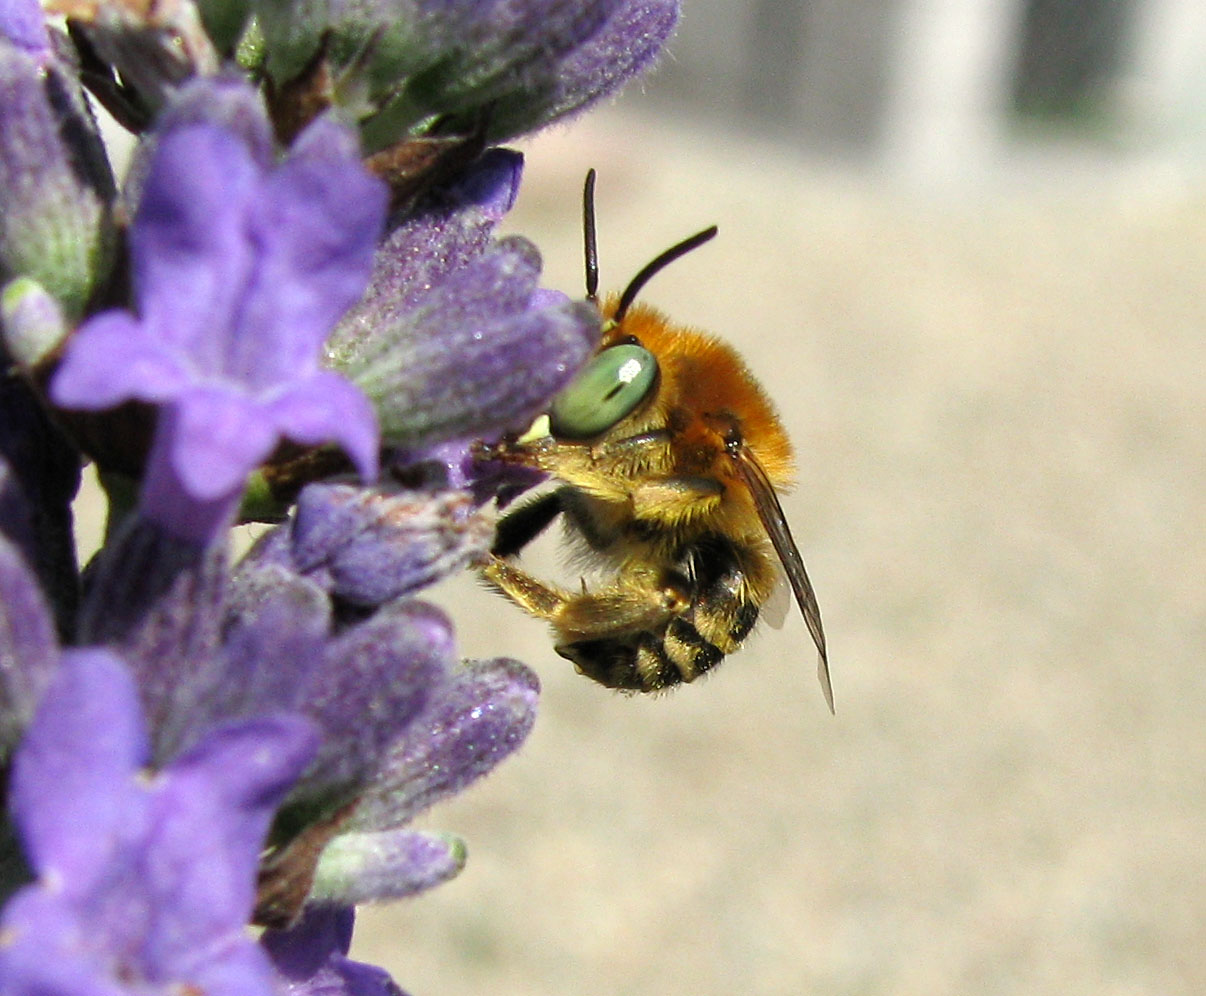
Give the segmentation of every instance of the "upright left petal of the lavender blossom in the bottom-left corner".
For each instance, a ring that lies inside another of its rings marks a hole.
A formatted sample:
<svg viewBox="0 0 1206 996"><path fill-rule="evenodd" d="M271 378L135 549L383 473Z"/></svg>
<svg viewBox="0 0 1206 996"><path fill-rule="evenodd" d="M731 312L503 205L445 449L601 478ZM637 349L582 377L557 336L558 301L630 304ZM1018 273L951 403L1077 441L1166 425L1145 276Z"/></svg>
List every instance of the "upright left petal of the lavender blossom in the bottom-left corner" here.
<svg viewBox="0 0 1206 996"><path fill-rule="evenodd" d="M103 650L69 651L17 751L11 808L30 863L90 889L146 830L135 774L147 760L137 690Z"/></svg>

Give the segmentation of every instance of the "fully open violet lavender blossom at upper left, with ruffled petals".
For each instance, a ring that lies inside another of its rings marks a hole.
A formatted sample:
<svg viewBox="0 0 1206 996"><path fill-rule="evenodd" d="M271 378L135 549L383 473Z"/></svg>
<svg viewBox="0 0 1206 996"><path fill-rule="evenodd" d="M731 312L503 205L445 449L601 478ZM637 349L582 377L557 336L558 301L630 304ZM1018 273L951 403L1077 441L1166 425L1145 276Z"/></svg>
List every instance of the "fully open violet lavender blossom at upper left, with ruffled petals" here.
<svg viewBox="0 0 1206 996"><path fill-rule="evenodd" d="M275 169L218 125L160 136L130 232L137 315L86 322L51 383L68 409L164 406L148 518L176 526L180 497L233 502L281 438L338 443L375 478L371 405L320 358L364 291L385 206L355 140L326 119Z"/></svg>

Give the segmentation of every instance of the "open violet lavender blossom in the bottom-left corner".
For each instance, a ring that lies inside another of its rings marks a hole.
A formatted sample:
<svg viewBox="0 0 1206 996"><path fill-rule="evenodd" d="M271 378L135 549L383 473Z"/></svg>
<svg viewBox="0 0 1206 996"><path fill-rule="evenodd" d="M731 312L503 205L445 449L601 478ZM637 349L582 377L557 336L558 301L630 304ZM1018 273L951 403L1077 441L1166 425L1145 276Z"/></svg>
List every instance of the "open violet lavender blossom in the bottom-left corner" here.
<svg viewBox="0 0 1206 996"><path fill-rule="evenodd" d="M299 717L230 723L148 777L129 673L69 651L13 761L39 881L5 907L0 992L275 996L244 927L269 821L316 739Z"/></svg>

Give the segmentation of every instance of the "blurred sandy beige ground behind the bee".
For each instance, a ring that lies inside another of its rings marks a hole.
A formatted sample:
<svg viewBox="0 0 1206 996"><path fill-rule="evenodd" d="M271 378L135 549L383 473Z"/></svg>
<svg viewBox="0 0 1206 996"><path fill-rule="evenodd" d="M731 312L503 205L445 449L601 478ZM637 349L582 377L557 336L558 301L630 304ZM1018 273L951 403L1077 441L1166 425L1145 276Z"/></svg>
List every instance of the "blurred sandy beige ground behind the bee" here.
<svg viewBox="0 0 1206 996"><path fill-rule="evenodd" d="M644 298L781 406L838 711L794 617L626 698L446 586L540 717L425 819L461 878L353 954L416 996L1206 991L1201 174L1060 141L918 181L639 96L527 153L511 227L570 293L590 165L604 286L719 223Z"/></svg>

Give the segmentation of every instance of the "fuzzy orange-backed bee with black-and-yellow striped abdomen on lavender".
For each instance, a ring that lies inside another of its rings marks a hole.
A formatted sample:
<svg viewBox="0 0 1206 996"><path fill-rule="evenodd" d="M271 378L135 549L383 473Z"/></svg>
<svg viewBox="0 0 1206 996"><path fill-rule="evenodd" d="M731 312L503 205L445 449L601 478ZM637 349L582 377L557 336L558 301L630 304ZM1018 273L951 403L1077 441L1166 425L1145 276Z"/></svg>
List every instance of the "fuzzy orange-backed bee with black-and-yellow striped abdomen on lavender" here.
<svg viewBox="0 0 1206 996"><path fill-rule="evenodd" d="M586 297L601 307L598 351L532 429L486 456L560 482L498 523L482 574L551 623L557 654L613 689L652 692L693 681L749 635L781 575L820 654L833 709L825 631L775 488L792 451L774 406L736 351L672 323L636 297L660 270L716 234L671 247L599 305L595 170L582 194ZM568 591L514 557L558 515L610 580Z"/></svg>

